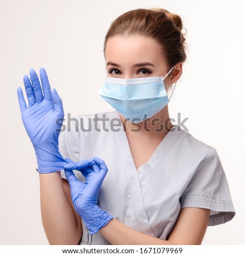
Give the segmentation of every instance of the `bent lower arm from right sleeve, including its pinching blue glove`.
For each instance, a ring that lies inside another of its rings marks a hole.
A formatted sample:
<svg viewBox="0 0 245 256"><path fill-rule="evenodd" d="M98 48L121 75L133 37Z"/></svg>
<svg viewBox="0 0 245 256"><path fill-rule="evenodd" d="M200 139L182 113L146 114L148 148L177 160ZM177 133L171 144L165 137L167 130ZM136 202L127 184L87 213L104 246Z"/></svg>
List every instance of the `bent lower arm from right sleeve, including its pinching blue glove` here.
<svg viewBox="0 0 245 256"><path fill-rule="evenodd" d="M124 223L97 206L97 197L108 168L106 163L94 157L73 162L66 158L65 175L71 188L75 210L88 227L90 234L99 233L112 245L200 245L203 241L210 209L183 208L168 236L168 240L146 235ZM78 181L72 170L79 170L86 182Z"/></svg>

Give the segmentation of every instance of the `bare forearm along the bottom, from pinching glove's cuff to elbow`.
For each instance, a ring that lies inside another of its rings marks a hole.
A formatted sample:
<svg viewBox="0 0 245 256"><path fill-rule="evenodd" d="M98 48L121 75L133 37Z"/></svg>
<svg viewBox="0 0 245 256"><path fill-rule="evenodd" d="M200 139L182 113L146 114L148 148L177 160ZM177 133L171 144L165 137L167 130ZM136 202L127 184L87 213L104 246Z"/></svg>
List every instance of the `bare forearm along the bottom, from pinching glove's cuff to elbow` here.
<svg viewBox="0 0 245 256"><path fill-rule="evenodd" d="M112 245L173 245L173 242L158 239L136 231L113 218L99 230Z"/></svg>

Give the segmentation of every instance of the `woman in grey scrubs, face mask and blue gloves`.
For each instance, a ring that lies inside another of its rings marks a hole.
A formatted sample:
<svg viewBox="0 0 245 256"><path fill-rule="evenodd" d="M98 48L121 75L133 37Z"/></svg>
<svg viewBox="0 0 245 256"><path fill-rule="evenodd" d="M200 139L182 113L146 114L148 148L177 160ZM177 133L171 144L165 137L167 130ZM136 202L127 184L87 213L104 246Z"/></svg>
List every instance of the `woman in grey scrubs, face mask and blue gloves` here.
<svg viewBox="0 0 245 256"><path fill-rule="evenodd" d="M105 38L99 91L117 111L73 118L60 137L62 101L46 71L44 94L34 70L24 76L29 106L21 88L18 96L51 244L200 245L207 225L235 216L216 150L169 118L167 92L186 60L181 30L164 9L120 15Z"/></svg>

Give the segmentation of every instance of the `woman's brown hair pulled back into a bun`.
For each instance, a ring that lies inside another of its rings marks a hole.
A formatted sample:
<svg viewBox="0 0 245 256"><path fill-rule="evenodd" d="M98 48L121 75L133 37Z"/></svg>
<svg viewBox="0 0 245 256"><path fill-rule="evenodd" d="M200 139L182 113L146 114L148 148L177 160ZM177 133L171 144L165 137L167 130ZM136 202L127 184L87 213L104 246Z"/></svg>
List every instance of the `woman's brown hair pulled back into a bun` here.
<svg viewBox="0 0 245 256"><path fill-rule="evenodd" d="M136 9L127 11L115 19L108 29L104 41L115 35L143 35L160 44L168 68L186 60L185 37L182 34L182 20L179 15L159 8Z"/></svg>

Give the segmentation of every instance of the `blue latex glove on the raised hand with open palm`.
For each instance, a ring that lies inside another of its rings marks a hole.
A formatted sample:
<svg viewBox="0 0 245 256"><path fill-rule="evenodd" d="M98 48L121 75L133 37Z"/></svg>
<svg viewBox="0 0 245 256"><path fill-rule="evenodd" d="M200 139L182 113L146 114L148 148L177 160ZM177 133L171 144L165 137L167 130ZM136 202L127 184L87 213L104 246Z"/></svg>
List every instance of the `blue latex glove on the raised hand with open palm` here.
<svg viewBox="0 0 245 256"><path fill-rule="evenodd" d="M30 80L23 77L28 107L20 87L17 89L21 117L30 141L33 144L39 173L52 173L63 170L65 163L58 149L58 137L64 118L62 100L56 89L50 89L45 69L40 69L42 88L36 72L30 70ZM30 82L31 81L31 82ZM42 94L42 90L44 94ZM56 123L60 118L59 124Z"/></svg>

